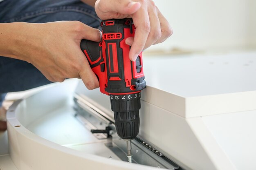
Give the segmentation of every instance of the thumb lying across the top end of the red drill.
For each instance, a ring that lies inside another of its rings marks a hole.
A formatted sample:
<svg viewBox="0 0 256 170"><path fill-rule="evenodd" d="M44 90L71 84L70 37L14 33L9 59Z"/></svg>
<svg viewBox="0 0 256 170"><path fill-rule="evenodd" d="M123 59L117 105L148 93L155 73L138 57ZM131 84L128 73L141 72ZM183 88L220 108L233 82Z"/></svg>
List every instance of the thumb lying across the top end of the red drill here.
<svg viewBox="0 0 256 170"><path fill-rule="evenodd" d="M117 0L100 0L98 7L104 13L117 12L130 15L138 11L141 4L132 0L118 0L118 2Z"/></svg>

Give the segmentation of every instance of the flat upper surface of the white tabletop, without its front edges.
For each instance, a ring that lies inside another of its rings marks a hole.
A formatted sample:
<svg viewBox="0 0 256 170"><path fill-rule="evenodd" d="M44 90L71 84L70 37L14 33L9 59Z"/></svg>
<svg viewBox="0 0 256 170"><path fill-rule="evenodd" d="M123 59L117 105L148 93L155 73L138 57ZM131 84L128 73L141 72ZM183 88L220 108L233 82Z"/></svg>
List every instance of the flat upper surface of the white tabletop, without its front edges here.
<svg viewBox="0 0 256 170"><path fill-rule="evenodd" d="M148 86L182 97L256 91L256 52L144 57Z"/></svg>

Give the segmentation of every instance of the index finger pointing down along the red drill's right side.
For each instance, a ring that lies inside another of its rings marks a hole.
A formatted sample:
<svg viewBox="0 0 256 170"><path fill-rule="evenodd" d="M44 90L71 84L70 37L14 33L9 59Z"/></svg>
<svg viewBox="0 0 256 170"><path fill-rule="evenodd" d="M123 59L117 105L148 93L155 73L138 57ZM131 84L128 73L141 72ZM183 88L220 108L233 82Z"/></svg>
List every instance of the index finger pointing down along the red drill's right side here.
<svg viewBox="0 0 256 170"><path fill-rule="evenodd" d="M132 20L134 26L136 27L134 42L131 46L129 58L132 61L135 61L144 49L146 41L148 39L148 34L150 32L150 22L147 9L141 6L141 9L136 13L132 14Z"/></svg>

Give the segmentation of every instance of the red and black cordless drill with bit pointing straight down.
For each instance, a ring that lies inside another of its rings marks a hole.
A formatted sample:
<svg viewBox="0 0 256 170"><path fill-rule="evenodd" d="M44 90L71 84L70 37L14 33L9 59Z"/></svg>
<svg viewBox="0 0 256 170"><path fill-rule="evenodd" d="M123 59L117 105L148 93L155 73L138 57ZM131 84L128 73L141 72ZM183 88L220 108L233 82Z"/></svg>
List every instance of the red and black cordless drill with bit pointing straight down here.
<svg viewBox="0 0 256 170"><path fill-rule="evenodd" d="M131 18L102 21L101 27L101 42L82 40L81 50L99 79L101 93L110 96L117 134L126 140L131 162L130 141L139 133L140 92L146 88L142 52L135 62L129 59L125 40L135 35Z"/></svg>

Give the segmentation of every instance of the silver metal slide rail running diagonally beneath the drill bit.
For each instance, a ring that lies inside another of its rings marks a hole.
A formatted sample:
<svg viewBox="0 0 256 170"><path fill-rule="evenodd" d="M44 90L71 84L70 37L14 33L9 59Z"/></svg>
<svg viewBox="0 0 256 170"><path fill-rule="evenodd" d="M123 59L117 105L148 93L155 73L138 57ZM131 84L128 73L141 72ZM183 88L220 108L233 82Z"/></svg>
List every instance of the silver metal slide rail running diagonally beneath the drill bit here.
<svg viewBox="0 0 256 170"><path fill-rule="evenodd" d="M104 132L94 133L94 136L98 139L108 139L107 142L105 142L105 146L115 153L119 159L127 161L126 141L122 140L117 135L114 121L108 115L102 113L101 110L78 95L74 95L74 101L74 109L76 110L76 114L74 116L88 130L97 129L97 132ZM109 130L107 131L105 129ZM133 153L132 163L169 170L183 170L175 162L166 157L161 151L139 137L136 137L131 143ZM110 159L112 159L111 156Z"/></svg>

